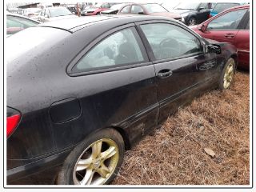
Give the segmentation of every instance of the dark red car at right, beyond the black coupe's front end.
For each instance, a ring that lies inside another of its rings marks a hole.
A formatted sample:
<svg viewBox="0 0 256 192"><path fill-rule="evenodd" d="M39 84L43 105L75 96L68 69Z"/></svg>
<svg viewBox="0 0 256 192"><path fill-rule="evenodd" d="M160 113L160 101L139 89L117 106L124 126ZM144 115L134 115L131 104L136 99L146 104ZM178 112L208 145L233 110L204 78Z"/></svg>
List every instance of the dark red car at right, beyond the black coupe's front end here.
<svg viewBox="0 0 256 192"><path fill-rule="evenodd" d="M250 6L235 6L198 26L191 26L204 38L230 42L238 49L238 66L250 69Z"/></svg>

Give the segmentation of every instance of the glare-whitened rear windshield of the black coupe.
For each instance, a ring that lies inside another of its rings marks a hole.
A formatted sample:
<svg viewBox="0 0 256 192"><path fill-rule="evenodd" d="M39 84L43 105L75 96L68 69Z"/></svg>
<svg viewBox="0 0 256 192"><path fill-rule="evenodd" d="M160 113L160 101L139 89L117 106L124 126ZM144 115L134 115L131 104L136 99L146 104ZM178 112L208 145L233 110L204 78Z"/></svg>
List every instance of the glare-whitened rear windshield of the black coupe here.
<svg viewBox="0 0 256 192"><path fill-rule="evenodd" d="M6 38L6 61L14 61L25 54L30 55L32 50L48 50L69 34L66 30L35 26L10 35Z"/></svg>

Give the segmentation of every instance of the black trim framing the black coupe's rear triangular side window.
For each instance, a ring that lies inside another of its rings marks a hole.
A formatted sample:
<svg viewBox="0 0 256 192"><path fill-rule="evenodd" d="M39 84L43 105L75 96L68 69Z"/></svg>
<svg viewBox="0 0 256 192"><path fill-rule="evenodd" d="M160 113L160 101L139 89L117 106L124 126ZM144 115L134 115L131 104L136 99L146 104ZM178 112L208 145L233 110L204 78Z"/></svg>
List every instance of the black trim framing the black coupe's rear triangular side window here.
<svg viewBox="0 0 256 192"><path fill-rule="evenodd" d="M138 34L138 30L136 29L134 23L129 23L124 26L118 26L112 30L106 31L106 33L100 35L98 38L94 39L92 42L90 42L88 45L86 45L80 53L70 62L70 64L66 67L66 74L70 75L70 77L76 77L76 76L82 76L82 75L88 75L88 74L100 74L105 72L110 72L114 70L125 70L130 69L134 67L139 66L148 66L151 65L152 62L150 62L150 59L148 58L148 55L146 53L146 48L142 42L142 38L140 38L140 35L134 35L134 38L138 42L138 46L140 50L142 51L142 57L145 59L142 62L135 62L135 63L129 63L129 64L120 64L120 65L114 65L114 66L102 66L96 68L91 68L89 70L83 70L83 71L72 71L74 66L78 64L78 62L87 54L90 52L90 50L94 49L95 46L98 45L98 43L104 41L105 38L108 38L110 35L117 33L120 30L126 30L129 28L134 28L135 32ZM136 37L137 36L137 37Z"/></svg>

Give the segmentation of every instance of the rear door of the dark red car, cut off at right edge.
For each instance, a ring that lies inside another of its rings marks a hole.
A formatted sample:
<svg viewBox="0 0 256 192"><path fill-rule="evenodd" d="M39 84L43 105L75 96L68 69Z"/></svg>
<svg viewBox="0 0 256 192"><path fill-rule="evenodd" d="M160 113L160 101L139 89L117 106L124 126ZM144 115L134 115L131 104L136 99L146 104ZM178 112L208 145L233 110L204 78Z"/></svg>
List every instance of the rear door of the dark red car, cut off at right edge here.
<svg viewBox="0 0 256 192"><path fill-rule="evenodd" d="M234 45L238 49L238 63L246 69L250 68L250 12L246 13L246 17L242 22L244 25L235 38Z"/></svg>

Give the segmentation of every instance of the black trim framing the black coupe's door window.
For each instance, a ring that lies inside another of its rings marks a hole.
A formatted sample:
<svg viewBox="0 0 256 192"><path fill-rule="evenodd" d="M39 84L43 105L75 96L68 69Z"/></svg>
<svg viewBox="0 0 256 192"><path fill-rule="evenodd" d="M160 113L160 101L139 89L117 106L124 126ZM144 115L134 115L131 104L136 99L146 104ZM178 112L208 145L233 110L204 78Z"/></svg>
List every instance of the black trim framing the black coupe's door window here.
<svg viewBox="0 0 256 192"><path fill-rule="evenodd" d="M156 24L156 23L170 24L170 25L181 27L183 30L186 30L188 33L193 35L195 38L198 38L198 41L200 42L200 46L201 46L201 51L198 53L195 53L195 54L186 54L184 56L179 56L179 57L174 57L174 58L164 58L164 59L155 58L154 51L152 50L152 48L150 46L150 42L148 42L146 35L144 34L141 26L146 25L146 24ZM162 62L170 62L170 61L174 61L177 59L190 58L192 56L205 54L205 50L202 45L202 38L199 37L198 34L195 34L194 31L190 31L190 30L186 29L184 26L182 26L181 24L179 24L177 22L170 22L170 21L166 21L166 20L154 20L154 21L136 22L135 24L136 24L136 26L138 26L138 29L139 29L138 31L139 31L139 34L141 35L142 42L145 43L146 51L149 54L149 58L153 62L153 64L158 64L158 63L162 63Z"/></svg>

